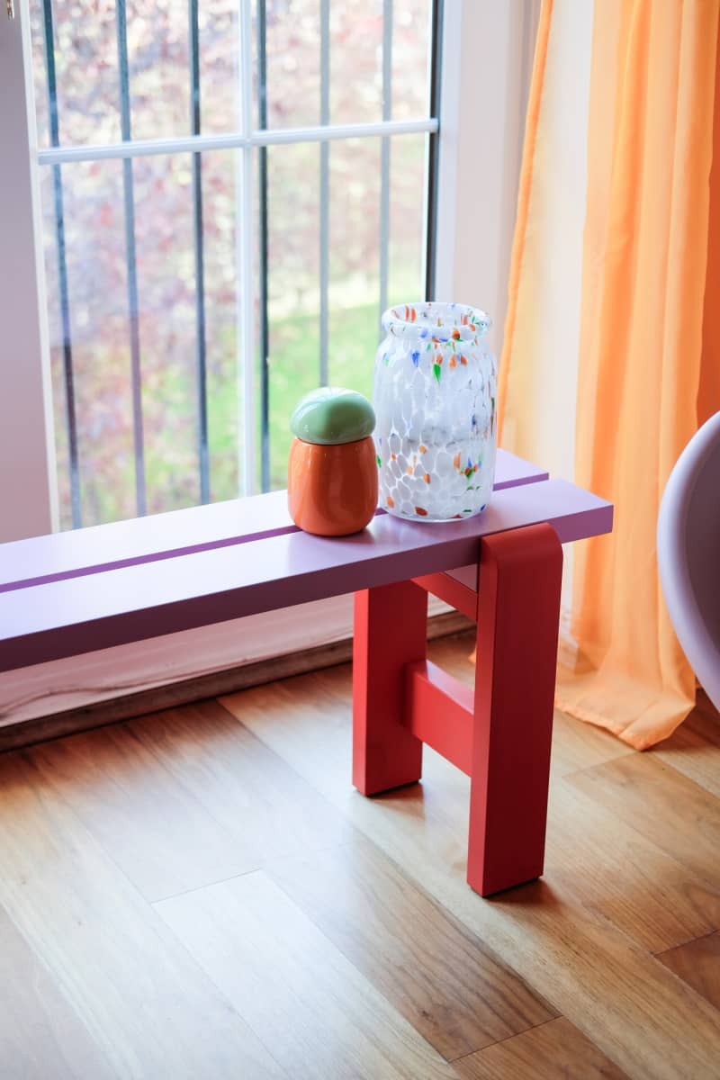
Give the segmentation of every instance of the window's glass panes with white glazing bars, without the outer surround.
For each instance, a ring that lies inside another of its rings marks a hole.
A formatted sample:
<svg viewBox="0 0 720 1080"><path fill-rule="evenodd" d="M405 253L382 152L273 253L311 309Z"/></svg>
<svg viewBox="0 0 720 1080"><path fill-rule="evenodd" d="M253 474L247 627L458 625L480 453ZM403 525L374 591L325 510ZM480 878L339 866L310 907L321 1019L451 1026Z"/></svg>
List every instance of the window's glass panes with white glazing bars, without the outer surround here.
<svg viewBox="0 0 720 1080"><path fill-rule="evenodd" d="M29 12L62 527L285 486L425 293L436 5Z"/></svg>

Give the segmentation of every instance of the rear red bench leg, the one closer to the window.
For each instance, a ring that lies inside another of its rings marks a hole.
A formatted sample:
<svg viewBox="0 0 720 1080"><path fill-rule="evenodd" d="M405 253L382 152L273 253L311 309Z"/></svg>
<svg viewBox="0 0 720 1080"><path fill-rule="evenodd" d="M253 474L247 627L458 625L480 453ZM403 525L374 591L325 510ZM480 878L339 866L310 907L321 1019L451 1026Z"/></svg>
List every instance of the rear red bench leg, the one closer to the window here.
<svg viewBox="0 0 720 1080"><path fill-rule="evenodd" d="M422 742L404 726L405 665L424 660L427 594L403 581L355 593L353 784L377 795L420 780Z"/></svg>

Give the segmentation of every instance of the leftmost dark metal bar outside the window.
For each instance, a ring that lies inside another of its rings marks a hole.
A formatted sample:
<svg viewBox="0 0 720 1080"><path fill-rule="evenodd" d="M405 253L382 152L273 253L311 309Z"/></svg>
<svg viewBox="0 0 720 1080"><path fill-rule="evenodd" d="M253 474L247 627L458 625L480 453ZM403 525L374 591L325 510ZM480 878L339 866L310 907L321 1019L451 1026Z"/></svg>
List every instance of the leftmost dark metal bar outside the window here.
<svg viewBox="0 0 720 1080"><path fill-rule="evenodd" d="M55 73L55 31L53 28L52 0L42 4L45 73L47 76L47 117L51 146L59 148L59 122L57 116L57 78ZM70 507L72 527L82 525L80 509L80 468L78 457L78 420L74 402L74 374L72 369L72 341L70 330L70 294L68 288L68 266L65 249L65 210L63 204L63 177L60 164L53 164L53 202L55 210L55 249L57 253L57 286L59 292L60 323L63 327L63 380L65 384L65 416L68 431L68 456L70 461Z"/></svg>

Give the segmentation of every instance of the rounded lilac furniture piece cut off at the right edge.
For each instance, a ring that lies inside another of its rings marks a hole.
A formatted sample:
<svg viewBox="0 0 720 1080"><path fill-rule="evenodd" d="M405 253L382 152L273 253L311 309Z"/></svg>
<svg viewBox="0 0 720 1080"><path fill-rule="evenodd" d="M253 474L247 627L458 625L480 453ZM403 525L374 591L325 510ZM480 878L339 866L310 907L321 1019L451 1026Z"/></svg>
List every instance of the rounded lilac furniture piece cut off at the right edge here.
<svg viewBox="0 0 720 1080"><path fill-rule="evenodd" d="M670 473L657 517L657 566L680 645L720 708L720 413Z"/></svg>

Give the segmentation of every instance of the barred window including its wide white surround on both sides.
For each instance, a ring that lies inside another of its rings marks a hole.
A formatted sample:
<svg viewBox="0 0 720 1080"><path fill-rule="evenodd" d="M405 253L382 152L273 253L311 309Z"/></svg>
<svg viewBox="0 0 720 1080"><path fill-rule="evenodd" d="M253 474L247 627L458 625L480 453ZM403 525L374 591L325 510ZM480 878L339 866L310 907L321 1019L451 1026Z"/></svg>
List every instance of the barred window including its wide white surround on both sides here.
<svg viewBox="0 0 720 1080"><path fill-rule="evenodd" d="M44 0L0 17L0 541L284 483L433 262L502 326L539 3L303 2L55 0L56 112Z"/></svg>

